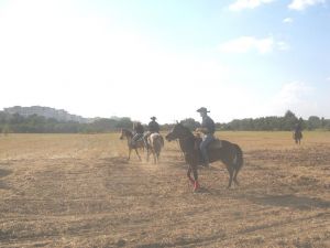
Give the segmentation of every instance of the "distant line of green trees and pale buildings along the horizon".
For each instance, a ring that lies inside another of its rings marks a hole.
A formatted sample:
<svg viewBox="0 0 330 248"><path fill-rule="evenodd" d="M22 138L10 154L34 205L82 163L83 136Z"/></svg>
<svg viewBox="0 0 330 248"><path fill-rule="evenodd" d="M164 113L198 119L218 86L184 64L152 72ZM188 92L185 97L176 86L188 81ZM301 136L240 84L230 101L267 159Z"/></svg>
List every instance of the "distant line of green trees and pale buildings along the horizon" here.
<svg viewBox="0 0 330 248"><path fill-rule="evenodd" d="M200 122L193 118L180 121L190 130L200 127ZM295 125L300 122L302 129L330 130L330 120L311 116L307 120L297 118L294 112L287 110L284 117L262 117L235 119L228 123L216 123L217 130L245 130L245 131L289 131ZM162 125L162 130L169 130L174 123ZM123 118L101 118L90 123L79 123L75 121L58 121L47 119L42 116L32 115L29 117L19 114L9 115L0 111L0 132L2 133L98 133L119 131L121 128L132 129L133 121L129 117Z"/></svg>

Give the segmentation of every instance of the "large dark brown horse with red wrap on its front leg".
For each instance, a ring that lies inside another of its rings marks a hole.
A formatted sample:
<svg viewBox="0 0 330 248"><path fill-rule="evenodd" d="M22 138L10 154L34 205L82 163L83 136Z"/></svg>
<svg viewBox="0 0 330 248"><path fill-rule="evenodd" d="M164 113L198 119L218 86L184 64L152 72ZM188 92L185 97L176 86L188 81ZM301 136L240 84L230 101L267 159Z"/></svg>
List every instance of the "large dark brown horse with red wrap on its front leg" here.
<svg viewBox="0 0 330 248"><path fill-rule="evenodd" d="M179 140L185 160L189 164L187 176L194 184L194 191L197 191L199 188L197 165L202 164L202 157L198 145L200 138L195 137L193 132L182 123L175 125L173 130L165 138L168 141L175 139ZM243 165L243 152L238 144L216 139L208 147L208 155L210 162L221 161L227 166L229 172L228 187L231 186L232 181L239 185L237 176ZM194 180L190 176L191 171L194 173Z"/></svg>

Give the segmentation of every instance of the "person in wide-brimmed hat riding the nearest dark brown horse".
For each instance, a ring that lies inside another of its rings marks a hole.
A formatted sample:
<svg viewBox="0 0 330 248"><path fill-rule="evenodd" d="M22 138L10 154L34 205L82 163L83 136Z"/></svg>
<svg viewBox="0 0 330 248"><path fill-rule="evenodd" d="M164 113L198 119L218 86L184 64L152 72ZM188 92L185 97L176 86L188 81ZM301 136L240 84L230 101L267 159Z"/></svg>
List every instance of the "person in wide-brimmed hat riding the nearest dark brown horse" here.
<svg viewBox="0 0 330 248"><path fill-rule="evenodd" d="M204 165L207 168L209 166L209 157L207 153L207 147L208 144L215 140L215 132L216 132L216 125L215 121L208 116L208 109L205 107L201 107L197 109L197 111L201 116L201 128L197 128L196 131L202 132L202 141L199 145L199 149L201 151L201 155L204 159Z"/></svg>

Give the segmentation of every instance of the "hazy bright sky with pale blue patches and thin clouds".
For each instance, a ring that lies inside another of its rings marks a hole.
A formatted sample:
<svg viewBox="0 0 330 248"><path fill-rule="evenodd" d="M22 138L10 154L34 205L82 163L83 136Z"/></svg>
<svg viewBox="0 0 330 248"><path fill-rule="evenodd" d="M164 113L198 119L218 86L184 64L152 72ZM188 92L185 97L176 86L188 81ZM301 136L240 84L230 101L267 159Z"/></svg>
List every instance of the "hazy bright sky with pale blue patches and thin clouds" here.
<svg viewBox="0 0 330 248"><path fill-rule="evenodd" d="M330 118L328 0L0 0L0 109Z"/></svg>

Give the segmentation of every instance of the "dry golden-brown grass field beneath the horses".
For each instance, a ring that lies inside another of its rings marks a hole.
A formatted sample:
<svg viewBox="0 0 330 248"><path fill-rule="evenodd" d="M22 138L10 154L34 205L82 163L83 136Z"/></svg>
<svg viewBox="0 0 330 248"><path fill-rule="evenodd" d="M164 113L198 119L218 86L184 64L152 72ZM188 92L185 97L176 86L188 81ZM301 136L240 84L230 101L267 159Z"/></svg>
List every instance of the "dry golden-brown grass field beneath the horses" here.
<svg viewBox="0 0 330 248"><path fill-rule="evenodd" d="M330 247L330 132L220 132L244 152L193 193L176 142L160 164L119 133L0 136L0 247Z"/></svg>

